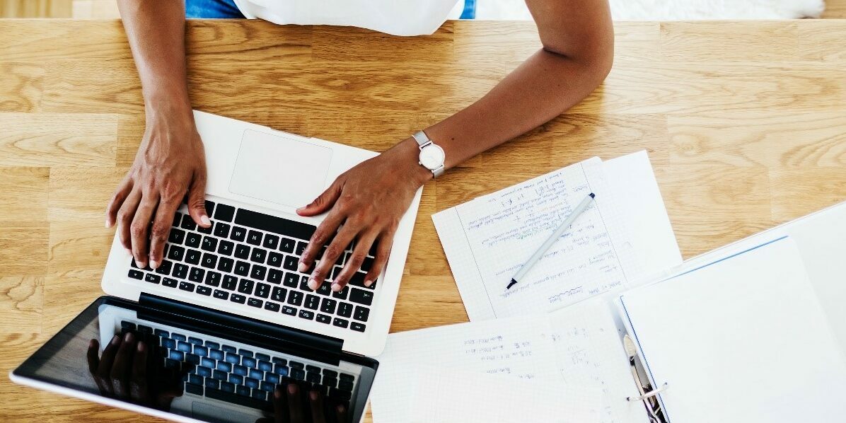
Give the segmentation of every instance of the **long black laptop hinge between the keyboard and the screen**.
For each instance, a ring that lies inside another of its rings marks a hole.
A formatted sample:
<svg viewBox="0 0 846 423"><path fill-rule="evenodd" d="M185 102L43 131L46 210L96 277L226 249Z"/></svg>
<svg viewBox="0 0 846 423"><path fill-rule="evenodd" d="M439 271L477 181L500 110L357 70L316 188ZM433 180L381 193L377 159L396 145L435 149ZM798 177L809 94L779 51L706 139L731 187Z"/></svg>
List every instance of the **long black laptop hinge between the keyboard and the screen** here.
<svg viewBox="0 0 846 423"><path fill-rule="evenodd" d="M338 365L343 340L305 332L201 305L141 293L138 317L187 330L230 338L284 354Z"/></svg>

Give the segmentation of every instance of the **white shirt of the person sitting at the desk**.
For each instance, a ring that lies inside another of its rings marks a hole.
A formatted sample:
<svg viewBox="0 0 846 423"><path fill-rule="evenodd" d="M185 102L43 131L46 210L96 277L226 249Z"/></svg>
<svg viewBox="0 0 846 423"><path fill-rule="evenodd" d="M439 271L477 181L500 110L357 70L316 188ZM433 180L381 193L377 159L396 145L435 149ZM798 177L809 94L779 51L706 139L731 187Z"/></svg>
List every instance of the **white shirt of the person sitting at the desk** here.
<svg viewBox="0 0 846 423"><path fill-rule="evenodd" d="M394 36L435 32L447 19L457 19L461 0L234 0L249 19L274 24L342 25Z"/></svg>

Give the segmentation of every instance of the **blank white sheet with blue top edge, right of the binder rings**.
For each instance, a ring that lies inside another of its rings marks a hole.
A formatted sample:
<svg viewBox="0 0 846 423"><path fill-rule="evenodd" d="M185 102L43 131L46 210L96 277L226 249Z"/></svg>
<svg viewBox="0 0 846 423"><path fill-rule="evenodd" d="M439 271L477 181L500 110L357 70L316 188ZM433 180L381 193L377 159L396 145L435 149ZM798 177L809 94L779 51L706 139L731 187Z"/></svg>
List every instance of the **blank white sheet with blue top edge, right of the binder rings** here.
<svg viewBox="0 0 846 423"><path fill-rule="evenodd" d="M787 237L620 296L667 420L842 421L846 354Z"/></svg>

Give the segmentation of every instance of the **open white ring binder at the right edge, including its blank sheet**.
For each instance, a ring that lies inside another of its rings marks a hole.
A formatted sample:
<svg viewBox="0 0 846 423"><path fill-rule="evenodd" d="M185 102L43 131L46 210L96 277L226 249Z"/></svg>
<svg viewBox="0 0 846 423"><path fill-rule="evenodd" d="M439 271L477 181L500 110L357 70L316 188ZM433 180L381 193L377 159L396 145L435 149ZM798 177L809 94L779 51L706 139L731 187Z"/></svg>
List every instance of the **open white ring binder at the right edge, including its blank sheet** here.
<svg viewBox="0 0 846 423"><path fill-rule="evenodd" d="M615 301L651 422L846 419L846 203L653 280Z"/></svg>

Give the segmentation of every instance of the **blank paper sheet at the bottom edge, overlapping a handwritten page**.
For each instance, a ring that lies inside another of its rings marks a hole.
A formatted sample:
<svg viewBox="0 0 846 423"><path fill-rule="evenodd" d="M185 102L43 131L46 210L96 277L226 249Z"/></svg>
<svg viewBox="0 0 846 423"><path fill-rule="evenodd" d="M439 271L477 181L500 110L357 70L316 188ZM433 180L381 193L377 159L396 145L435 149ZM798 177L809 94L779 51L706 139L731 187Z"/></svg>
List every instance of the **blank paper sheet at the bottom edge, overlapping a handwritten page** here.
<svg viewBox="0 0 846 423"><path fill-rule="evenodd" d="M409 405L412 423L524 423L594 421L596 395L563 384L472 373L436 366L421 369Z"/></svg>

